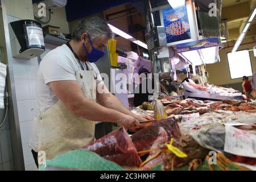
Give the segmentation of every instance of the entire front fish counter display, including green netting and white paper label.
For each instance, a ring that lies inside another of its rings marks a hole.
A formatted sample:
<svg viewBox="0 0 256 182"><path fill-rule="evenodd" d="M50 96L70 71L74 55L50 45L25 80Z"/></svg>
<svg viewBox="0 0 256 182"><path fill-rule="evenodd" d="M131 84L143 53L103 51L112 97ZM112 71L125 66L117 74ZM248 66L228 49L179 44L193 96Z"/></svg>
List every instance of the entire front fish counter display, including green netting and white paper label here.
<svg viewBox="0 0 256 182"><path fill-rule="evenodd" d="M256 169L253 103L164 96L132 111L148 121L128 133L120 127L80 150L47 160L40 169ZM159 119L159 115L164 118ZM212 163L213 157L216 164Z"/></svg>

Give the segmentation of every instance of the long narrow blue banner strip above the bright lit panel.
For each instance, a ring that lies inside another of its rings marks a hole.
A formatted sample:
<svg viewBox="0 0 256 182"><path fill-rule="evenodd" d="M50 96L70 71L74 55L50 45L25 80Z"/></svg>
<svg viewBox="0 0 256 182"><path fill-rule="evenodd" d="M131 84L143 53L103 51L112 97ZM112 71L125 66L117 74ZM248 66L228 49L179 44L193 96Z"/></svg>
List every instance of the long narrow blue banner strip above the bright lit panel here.
<svg viewBox="0 0 256 182"><path fill-rule="evenodd" d="M184 43L184 44L178 44L177 52L179 53L179 52L193 51L193 50L197 50L197 49L216 47L216 46L219 46L218 38L214 37L214 38L208 38L208 39L188 42L188 43Z"/></svg>

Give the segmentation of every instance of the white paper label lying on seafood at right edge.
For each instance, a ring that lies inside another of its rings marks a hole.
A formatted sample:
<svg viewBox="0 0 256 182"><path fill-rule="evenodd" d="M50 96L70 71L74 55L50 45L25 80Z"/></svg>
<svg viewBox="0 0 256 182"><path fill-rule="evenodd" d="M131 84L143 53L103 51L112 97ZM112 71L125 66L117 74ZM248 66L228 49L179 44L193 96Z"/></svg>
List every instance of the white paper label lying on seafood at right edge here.
<svg viewBox="0 0 256 182"><path fill-rule="evenodd" d="M256 158L256 135L225 125L224 151L234 155Z"/></svg>

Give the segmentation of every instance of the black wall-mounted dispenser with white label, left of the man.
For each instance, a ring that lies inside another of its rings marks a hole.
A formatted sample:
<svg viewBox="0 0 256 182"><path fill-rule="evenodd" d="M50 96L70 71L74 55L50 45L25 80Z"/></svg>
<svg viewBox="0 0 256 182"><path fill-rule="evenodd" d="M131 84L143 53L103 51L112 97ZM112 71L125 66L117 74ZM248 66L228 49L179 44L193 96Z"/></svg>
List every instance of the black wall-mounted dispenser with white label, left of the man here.
<svg viewBox="0 0 256 182"><path fill-rule="evenodd" d="M35 20L18 20L9 24L13 57L32 59L46 48L42 25Z"/></svg>

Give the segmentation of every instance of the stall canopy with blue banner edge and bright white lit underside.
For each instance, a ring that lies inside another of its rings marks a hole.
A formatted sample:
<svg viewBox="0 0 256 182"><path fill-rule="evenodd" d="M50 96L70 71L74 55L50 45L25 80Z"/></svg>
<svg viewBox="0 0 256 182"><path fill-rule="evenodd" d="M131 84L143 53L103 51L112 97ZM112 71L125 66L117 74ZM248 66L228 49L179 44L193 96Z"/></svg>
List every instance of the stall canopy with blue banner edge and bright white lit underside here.
<svg viewBox="0 0 256 182"><path fill-rule="evenodd" d="M208 38L177 45L177 52L192 65L213 64L218 60L218 38Z"/></svg>

